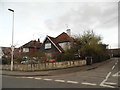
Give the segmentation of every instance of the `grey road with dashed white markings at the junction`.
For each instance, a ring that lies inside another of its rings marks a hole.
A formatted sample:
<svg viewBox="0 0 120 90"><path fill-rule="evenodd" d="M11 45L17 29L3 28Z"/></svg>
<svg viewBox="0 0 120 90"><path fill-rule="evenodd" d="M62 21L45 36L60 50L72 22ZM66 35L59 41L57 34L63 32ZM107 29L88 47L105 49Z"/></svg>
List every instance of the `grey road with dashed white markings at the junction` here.
<svg viewBox="0 0 120 90"><path fill-rule="evenodd" d="M98 68L55 76L2 76L3 88L118 88L118 59Z"/></svg>

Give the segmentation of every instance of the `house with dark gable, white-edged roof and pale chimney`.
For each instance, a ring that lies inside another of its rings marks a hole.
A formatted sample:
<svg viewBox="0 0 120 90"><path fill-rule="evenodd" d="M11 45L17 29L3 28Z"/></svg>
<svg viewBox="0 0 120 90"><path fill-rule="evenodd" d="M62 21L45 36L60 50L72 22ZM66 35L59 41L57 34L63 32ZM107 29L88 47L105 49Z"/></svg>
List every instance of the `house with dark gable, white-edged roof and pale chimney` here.
<svg viewBox="0 0 120 90"><path fill-rule="evenodd" d="M70 48L74 39L70 36L70 29L67 33L63 32L57 37L46 36L40 50L45 52L48 58L56 58L60 53L64 53L67 48Z"/></svg>

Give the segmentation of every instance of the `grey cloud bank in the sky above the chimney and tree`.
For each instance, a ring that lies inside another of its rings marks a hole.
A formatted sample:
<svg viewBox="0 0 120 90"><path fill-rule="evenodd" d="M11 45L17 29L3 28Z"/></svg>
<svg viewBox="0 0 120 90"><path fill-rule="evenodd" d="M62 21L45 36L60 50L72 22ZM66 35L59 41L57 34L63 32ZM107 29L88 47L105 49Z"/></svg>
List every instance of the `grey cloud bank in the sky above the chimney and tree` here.
<svg viewBox="0 0 120 90"><path fill-rule="evenodd" d="M95 27L99 28L111 28L117 24L117 3L77 3L77 8L74 4L63 16L46 21L46 26L50 30L63 30L65 24L74 29L95 26L96 23Z"/></svg>

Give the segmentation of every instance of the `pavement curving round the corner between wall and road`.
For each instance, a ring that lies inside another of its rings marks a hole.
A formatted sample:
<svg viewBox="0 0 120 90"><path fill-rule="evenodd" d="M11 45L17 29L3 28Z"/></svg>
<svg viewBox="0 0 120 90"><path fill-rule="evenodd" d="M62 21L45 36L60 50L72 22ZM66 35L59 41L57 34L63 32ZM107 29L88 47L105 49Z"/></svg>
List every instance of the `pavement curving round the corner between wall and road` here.
<svg viewBox="0 0 120 90"><path fill-rule="evenodd" d="M7 71L2 70L1 75L8 75L8 76L54 76L54 75L61 75L61 74L70 74L80 71L87 71L91 69L95 69L103 64L107 64L110 62L111 59L95 63L92 65L85 65L80 67L72 67L67 69L58 69L58 70L47 70L47 71L31 71L31 72L25 72L25 71Z"/></svg>

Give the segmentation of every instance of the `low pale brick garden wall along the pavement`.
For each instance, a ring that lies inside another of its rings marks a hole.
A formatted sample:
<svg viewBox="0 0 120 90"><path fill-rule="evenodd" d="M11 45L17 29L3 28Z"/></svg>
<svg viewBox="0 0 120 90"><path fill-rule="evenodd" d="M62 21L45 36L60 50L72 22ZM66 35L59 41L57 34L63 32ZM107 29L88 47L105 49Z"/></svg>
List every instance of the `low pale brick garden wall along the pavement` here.
<svg viewBox="0 0 120 90"><path fill-rule="evenodd" d="M39 64L19 64L14 65L13 69L15 71L40 71L40 70L52 70L52 69L62 69L68 67L76 67L86 65L86 60L76 60L76 61L63 61L63 62L47 62ZM10 70L10 65L2 65L3 70Z"/></svg>

